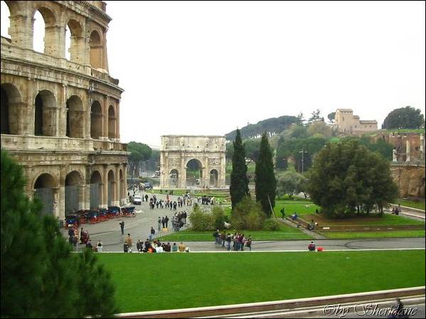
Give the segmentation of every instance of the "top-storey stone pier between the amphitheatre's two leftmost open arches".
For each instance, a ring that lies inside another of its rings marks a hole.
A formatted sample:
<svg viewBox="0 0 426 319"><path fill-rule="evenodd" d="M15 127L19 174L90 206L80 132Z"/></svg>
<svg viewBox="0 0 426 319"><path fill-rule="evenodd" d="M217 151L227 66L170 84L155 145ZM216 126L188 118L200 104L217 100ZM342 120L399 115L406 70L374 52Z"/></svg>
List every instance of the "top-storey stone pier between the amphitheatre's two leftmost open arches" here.
<svg viewBox="0 0 426 319"><path fill-rule="evenodd" d="M25 13L18 13L9 17L11 26L9 34L12 44L26 49L33 48L33 25L34 19Z"/></svg>

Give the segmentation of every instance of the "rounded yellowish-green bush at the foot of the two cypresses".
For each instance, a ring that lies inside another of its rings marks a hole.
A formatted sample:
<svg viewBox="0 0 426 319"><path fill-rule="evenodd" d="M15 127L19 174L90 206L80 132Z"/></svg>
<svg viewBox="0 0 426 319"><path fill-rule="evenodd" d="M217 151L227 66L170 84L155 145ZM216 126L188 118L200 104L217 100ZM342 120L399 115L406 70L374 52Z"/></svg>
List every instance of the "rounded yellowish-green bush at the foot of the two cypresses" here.
<svg viewBox="0 0 426 319"><path fill-rule="evenodd" d="M259 202L244 198L233 210L231 222L235 229L262 229L266 215Z"/></svg>

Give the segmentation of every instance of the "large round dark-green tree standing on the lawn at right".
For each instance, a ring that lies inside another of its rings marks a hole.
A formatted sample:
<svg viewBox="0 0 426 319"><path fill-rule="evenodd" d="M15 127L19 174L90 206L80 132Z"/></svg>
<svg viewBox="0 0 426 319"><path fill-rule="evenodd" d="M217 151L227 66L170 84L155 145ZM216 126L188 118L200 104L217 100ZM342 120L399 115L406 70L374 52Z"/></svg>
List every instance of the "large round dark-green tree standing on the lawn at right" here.
<svg viewBox="0 0 426 319"><path fill-rule="evenodd" d="M371 212L398 195L390 164L356 139L327 144L307 174L307 190L316 205L333 216Z"/></svg>

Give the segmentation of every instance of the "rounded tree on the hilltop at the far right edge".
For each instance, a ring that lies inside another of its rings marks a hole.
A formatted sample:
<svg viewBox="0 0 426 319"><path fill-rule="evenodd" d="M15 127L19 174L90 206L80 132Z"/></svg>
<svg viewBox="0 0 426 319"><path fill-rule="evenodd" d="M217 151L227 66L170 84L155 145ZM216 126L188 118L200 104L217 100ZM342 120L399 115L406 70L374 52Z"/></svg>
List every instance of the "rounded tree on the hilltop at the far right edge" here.
<svg viewBox="0 0 426 319"><path fill-rule="evenodd" d="M382 125L382 129L420 129L422 127L425 127L425 117L421 109L414 107L394 109Z"/></svg>

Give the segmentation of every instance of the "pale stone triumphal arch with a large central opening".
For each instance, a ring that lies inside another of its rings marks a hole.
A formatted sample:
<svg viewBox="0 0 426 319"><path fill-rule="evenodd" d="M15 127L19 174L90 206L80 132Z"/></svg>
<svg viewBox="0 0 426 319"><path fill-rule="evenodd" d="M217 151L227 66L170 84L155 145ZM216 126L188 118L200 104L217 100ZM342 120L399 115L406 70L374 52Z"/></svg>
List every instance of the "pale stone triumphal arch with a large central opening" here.
<svg viewBox="0 0 426 319"><path fill-rule="evenodd" d="M225 188L225 136L161 136L160 188Z"/></svg>

